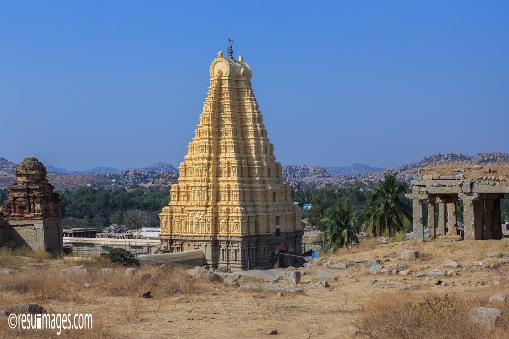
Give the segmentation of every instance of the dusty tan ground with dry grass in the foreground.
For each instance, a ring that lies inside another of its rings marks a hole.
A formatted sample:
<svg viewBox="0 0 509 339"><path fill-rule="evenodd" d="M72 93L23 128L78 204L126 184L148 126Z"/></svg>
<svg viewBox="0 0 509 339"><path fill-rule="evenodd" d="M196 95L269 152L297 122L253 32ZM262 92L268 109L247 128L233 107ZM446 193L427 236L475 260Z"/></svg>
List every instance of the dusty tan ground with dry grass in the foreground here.
<svg viewBox="0 0 509 339"><path fill-rule="evenodd" d="M313 275L318 270L332 269L330 266L334 262L346 262L354 258L380 259L384 268L392 269L401 261L399 256L404 249L420 252L418 262L405 262L406 268L412 270L410 275L367 273L369 266L360 263L333 273L337 276L337 281L329 280L330 288L309 288ZM391 293L406 293L411 301L421 295L431 297L445 293L489 297L499 292L507 295L509 264L500 262L504 258L500 260L497 257L486 257L490 252L499 252L509 259L509 244L504 240L453 242L437 239L420 244L405 241L383 245L376 241L367 241L354 249L342 249L335 255L320 258L314 262L315 267L301 268L304 275L302 283L297 287L304 289L302 295L277 296L275 292L241 292L235 286L215 283L196 290L198 293L168 293L161 298L145 299L140 297L139 291L114 293L106 284L113 284L115 281L95 279L91 281L89 288L81 287L80 281L77 285L79 288L69 290L73 295L69 295L67 299L64 296L42 297L30 289L23 293L0 291L0 309L20 302L38 302L50 312L92 313L94 326L99 327L99 330L96 329L91 337L262 338L270 337L266 334L269 329L276 329L279 334L275 337L280 338L351 337L349 332L358 328L357 321L371 296L390 298ZM384 262L385 259L390 261ZM443 262L447 259L456 260L461 267L444 267ZM482 262L482 265L479 262ZM496 263L497 267L490 269L491 263ZM73 265L75 263L62 259L0 257L0 269L15 271L14 274L0 275L0 285L12 283L16 276L26 276L26 273L35 276L50 269L60 272L62 268ZM118 274L115 279L125 276L121 267L114 268ZM140 272L152 268L142 267ZM456 275L434 278L429 274L434 269L454 270ZM427 274L417 278L417 272ZM425 280L427 277L430 278L429 281ZM448 285L454 281L456 286L437 286L435 283L438 279ZM375 287L374 280L396 285ZM472 286L477 281L484 281L485 285ZM54 284L54 289L64 287L58 286L58 280ZM69 282L63 284L67 286ZM418 289L402 292L401 288L407 286L416 286ZM121 295L114 296L115 294ZM256 295L263 297L253 298ZM0 337L26 336L26 332L10 330L5 325L6 322L6 317L0 317ZM64 336L68 334L69 332L64 333ZM365 335L360 333L356 337Z"/></svg>

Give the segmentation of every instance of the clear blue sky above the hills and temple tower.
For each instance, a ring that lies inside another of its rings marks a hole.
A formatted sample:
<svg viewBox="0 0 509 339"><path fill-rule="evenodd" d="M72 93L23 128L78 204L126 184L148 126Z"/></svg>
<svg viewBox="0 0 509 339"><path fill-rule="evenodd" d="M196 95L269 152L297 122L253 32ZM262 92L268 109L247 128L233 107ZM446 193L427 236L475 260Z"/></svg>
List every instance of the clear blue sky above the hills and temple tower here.
<svg viewBox="0 0 509 339"><path fill-rule="evenodd" d="M0 2L0 156L183 161L229 36L279 162L509 152L509 2Z"/></svg>

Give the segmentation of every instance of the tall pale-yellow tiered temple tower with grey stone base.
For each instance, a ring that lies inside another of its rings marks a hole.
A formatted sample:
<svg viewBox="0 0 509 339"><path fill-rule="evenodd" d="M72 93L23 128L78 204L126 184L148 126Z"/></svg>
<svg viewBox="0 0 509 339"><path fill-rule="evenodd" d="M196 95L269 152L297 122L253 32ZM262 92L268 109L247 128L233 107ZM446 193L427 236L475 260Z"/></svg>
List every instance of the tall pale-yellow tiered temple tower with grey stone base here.
<svg viewBox="0 0 509 339"><path fill-rule="evenodd" d="M161 218L162 248L202 249L211 267L296 264L301 214L283 183L251 88L251 68L222 52L210 65L200 124Z"/></svg>

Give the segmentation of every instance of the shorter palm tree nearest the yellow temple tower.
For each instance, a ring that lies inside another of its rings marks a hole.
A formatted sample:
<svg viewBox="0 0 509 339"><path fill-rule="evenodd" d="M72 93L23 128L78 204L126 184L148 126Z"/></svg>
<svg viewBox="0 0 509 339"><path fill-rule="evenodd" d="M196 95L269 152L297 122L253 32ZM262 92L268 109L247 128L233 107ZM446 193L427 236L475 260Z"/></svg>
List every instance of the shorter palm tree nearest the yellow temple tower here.
<svg viewBox="0 0 509 339"><path fill-rule="evenodd" d="M322 219L325 229L317 237L317 241L325 244L322 253L336 251L348 243L358 243L359 239L353 231L356 224L357 218L353 217L352 207L348 206L346 200L344 204L328 209Z"/></svg>

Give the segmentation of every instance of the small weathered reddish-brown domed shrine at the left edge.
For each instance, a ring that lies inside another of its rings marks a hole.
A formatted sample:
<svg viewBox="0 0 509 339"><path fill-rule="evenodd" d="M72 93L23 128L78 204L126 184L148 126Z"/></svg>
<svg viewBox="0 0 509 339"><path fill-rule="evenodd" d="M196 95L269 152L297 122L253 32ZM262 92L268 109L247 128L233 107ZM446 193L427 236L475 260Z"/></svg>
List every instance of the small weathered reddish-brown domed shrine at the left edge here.
<svg viewBox="0 0 509 339"><path fill-rule="evenodd" d="M16 166L16 177L0 208L0 244L13 241L18 247L61 252L61 199L48 183L46 167L28 157Z"/></svg>

